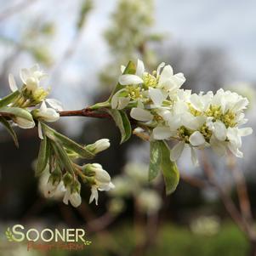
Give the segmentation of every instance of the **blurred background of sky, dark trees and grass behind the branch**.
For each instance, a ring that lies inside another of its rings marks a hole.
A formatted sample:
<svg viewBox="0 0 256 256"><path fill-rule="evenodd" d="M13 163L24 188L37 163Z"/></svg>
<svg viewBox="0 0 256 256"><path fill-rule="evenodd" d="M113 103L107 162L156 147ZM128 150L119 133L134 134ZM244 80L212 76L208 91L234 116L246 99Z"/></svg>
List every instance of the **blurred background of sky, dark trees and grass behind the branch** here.
<svg viewBox="0 0 256 256"><path fill-rule="evenodd" d="M108 98L121 64L139 58L154 70L165 61L184 72L184 88L247 96L255 130L255 9L253 0L0 0L0 97L9 93L9 72L18 77L20 68L38 63L65 110L81 109ZM149 145L137 138L119 145L111 120L63 117L54 128L82 144L111 139L95 162L117 190L101 192L98 207L88 205L85 186L79 208L44 199L32 168L37 131L17 129L17 150L1 128L0 255L256 255L255 237L234 218L237 212L254 231L254 134L243 139L239 161L206 151L195 168L185 153L178 162L179 187L167 197L162 177L147 182ZM4 236L18 223L84 227L92 244L82 252L27 252Z"/></svg>

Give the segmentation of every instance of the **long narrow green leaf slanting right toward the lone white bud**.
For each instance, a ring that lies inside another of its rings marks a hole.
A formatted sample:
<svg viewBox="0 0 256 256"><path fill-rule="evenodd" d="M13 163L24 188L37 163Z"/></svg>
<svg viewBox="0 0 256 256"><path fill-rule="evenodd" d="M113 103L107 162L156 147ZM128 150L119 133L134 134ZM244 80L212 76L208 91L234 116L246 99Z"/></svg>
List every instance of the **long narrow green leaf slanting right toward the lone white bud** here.
<svg viewBox="0 0 256 256"><path fill-rule="evenodd" d="M79 145L77 142L66 137L65 135L58 133L53 128L48 127L48 125L42 123L42 128L50 139L64 145L68 150L75 151L79 156L85 159L94 158L94 154L85 149L85 147Z"/></svg>

